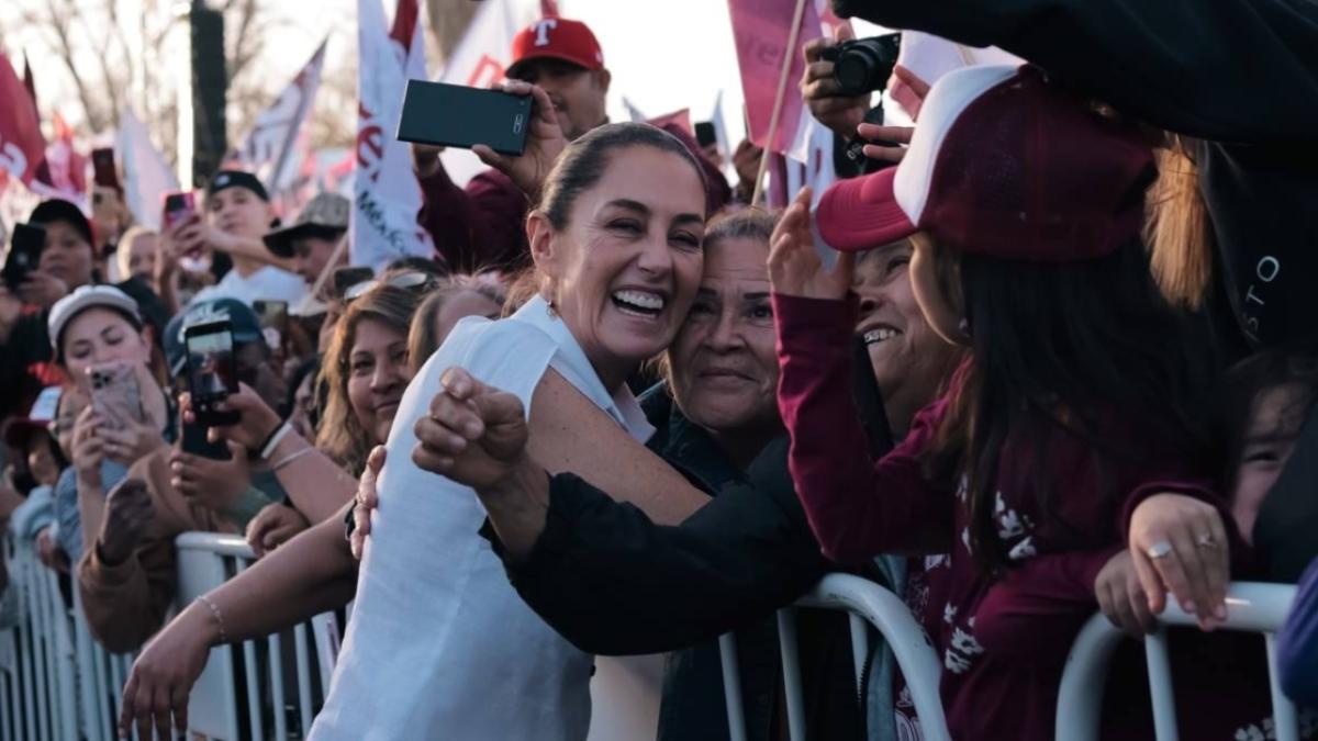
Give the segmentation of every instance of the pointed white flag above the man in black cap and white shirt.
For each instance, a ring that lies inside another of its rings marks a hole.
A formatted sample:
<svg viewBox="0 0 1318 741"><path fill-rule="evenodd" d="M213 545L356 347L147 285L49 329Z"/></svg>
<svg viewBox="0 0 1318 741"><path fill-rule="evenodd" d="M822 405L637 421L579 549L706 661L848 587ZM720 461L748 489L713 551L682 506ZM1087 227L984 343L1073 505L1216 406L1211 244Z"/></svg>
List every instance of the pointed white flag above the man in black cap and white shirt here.
<svg viewBox="0 0 1318 741"><path fill-rule="evenodd" d="M293 148L320 87L327 41L320 42L298 76L256 117L237 150L243 166L254 173L272 195L287 189L297 174Z"/></svg>

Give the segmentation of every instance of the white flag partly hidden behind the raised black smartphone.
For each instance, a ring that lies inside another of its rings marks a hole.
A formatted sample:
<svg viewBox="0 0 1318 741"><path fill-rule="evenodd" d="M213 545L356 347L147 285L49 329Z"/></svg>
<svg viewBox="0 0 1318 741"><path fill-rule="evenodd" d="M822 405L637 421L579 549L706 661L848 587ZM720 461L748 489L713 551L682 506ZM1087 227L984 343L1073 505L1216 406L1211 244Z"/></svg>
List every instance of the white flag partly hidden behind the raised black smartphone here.
<svg viewBox="0 0 1318 741"><path fill-rule="evenodd" d="M503 79L503 70L513 61L513 37L539 17L536 0L484 0L449 54L439 82L489 87ZM469 150L452 146L440 154L440 161L448 177L460 186L488 169Z"/></svg>

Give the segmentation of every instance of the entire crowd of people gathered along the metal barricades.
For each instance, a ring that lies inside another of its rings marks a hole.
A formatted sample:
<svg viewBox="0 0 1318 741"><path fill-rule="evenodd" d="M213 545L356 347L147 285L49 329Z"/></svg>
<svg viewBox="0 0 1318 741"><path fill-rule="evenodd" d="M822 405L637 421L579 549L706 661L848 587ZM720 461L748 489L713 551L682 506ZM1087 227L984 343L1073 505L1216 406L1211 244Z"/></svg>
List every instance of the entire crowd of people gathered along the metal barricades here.
<svg viewBox="0 0 1318 741"><path fill-rule="evenodd" d="M241 170L159 232L113 189L32 212L0 516L137 651L121 732L182 732L214 646L351 601L311 738L584 740L592 675L651 654L658 737L726 738L724 633L749 737L779 738L774 612L834 571L904 599L956 738L1052 738L1086 620L1135 637L1169 603L1198 622L1184 732L1268 737L1232 580L1300 583L1280 680L1318 707L1318 12L837 5L1028 63L899 67L899 129L809 44L805 105L871 161L771 212L751 145L730 183L677 125L608 123L600 45L558 18L502 83L523 154L477 148L460 187L414 145L431 258L360 270L348 199L281 224ZM1259 69L1217 63L1238 34ZM258 560L175 604L196 530ZM811 737L921 737L882 646L858 700L845 616L800 645ZM1140 651L1104 738L1152 737Z"/></svg>

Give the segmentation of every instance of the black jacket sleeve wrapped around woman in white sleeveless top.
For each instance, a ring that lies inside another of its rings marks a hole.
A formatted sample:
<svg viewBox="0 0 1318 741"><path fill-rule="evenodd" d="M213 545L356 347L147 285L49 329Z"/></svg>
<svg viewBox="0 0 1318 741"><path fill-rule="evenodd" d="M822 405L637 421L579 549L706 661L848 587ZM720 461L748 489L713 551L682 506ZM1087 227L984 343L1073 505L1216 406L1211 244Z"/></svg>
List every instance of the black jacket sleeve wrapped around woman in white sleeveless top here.
<svg viewBox="0 0 1318 741"><path fill-rule="evenodd" d="M760 485L733 485L679 526L659 526L572 473L550 483L546 530L505 566L522 599L579 649L652 654L791 604L828 570L786 483L786 440ZM772 481L767 481L772 479ZM485 529L502 556L490 527Z"/></svg>

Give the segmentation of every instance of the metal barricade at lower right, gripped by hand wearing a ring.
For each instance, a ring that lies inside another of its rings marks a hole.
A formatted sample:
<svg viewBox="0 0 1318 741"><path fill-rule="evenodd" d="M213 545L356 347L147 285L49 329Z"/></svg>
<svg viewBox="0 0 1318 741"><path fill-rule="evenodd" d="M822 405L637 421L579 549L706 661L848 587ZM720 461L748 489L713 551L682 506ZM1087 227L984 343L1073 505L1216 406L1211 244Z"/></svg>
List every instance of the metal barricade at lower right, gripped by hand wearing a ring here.
<svg viewBox="0 0 1318 741"><path fill-rule="evenodd" d="M1228 620L1222 630L1263 633L1268 653L1268 679L1272 686L1272 717L1277 741L1297 741L1300 720L1296 705L1281 694L1277 679L1277 639L1294 601L1296 588L1289 584L1236 581L1227 592ZM1173 600L1159 620L1164 626L1194 626L1194 617L1182 612ZM1103 708L1103 684L1112 651L1123 633L1102 614L1085 625L1072 645L1057 697L1057 738L1062 741L1097 741ZM1178 738L1176 703L1172 694L1172 668L1168 658L1166 632L1144 638L1149 668L1149 692L1153 700L1153 730L1159 741Z"/></svg>

